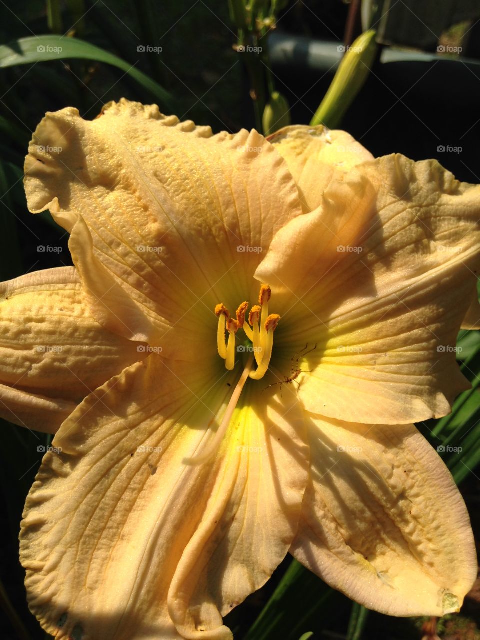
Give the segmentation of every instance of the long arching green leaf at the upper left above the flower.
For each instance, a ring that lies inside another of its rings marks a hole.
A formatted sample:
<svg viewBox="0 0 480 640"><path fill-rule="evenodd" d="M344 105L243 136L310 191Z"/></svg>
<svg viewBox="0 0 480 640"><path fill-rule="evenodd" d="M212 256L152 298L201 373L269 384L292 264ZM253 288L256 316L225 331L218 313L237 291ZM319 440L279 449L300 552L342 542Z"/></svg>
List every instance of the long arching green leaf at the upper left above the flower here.
<svg viewBox="0 0 480 640"><path fill-rule="evenodd" d="M136 69L134 65L114 56L109 51L84 42L84 40L46 35L20 38L20 40L13 40L9 44L0 46L0 68L31 65L51 60L67 60L68 58L95 60L118 67L152 93L162 108L168 109L172 113L175 111L172 95L160 84Z"/></svg>

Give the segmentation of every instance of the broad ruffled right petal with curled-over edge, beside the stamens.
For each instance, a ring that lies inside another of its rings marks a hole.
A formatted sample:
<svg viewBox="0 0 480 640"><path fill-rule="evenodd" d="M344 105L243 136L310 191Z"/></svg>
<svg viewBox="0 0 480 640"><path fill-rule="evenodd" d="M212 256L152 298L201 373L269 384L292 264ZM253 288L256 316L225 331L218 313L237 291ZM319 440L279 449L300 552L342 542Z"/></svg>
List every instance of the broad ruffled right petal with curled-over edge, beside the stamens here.
<svg viewBox="0 0 480 640"><path fill-rule="evenodd" d="M351 245L358 251L338 253L327 269L325 253L310 253L308 261L305 247L326 235L316 212L281 230L257 271L295 300L276 345L290 340L292 352L317 345L301 367L300 397L309 411L378 424L440 417L468 388L454 345L476 288L480 186L461 184L435 161L402 156L353 173L355 180L342 183L346 191L336 190L345 217L352 207L362 211L362 191L345 197L355 182L365 184L359 173L376 193L364 210L369 226Z"/></svg>

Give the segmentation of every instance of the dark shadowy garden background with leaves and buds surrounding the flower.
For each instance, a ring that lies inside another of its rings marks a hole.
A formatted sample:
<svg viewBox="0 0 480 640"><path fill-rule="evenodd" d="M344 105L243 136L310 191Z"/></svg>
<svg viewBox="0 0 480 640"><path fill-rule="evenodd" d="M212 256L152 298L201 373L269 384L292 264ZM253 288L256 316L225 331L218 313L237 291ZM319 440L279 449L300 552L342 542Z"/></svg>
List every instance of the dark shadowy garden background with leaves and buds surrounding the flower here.
<svg viewBox="0 0 480 640"><path fill-rule="evenodd" d="M459 179L480 182L476 1L29 0L1 5L2 280L71 264L67 235L47 212L28 214L22 186L24 156L36 125L46 111L67 106L94 118L102 104L126 97L156 102L164 113L210 124L214 131L232 132L256 126L268 133L289 120L308 124L315 117L341 125L375 156L436 157ZM360 54L360 61L346 58L339 70L348 46L367 29L375 32L369 55ZM322 102L332 81L335 97L331 90L330 102ZM38 252L42 244L62 251ZM460 484L478 540L480 337L461 332L458 346L472 390L460 396L452 415L419 428L440 447ZM17 538L24 500L42 459L39 447L49 442L7 423L1 427L0 637L44 640L48 636L26 605ZM452 451L459 447L461 452ZM287 558L264 588L227 617L227 624L237 640L435 640L435 633L445 640L480 640L479 602L476 588L460 616L438 623L388 618L353 604Z"/></svg>

